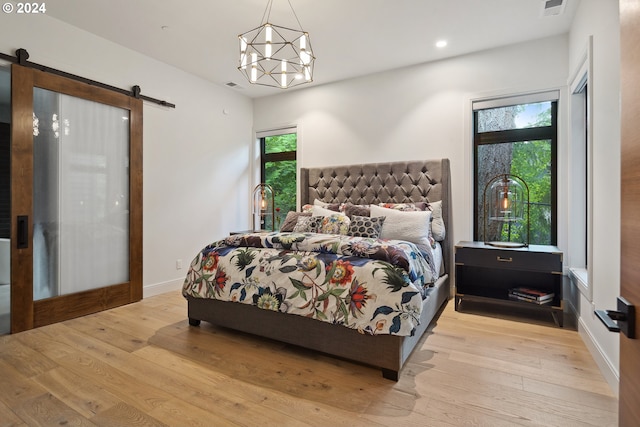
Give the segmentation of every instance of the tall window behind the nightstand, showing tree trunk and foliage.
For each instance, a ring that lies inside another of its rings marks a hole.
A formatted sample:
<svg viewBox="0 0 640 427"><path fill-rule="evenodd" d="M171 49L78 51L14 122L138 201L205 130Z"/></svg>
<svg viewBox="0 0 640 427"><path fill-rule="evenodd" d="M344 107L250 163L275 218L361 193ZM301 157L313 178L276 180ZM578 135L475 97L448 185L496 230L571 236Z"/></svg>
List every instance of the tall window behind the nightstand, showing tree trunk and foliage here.
<svg viewBox="0 0 640 427"><path fill-rule="evenodd" d="M555 94L553 92L552 94ZM546 98L546 99L545 99ZM483 241L486 184L495 176L512 174L529 188L529 243L555 245L557 96L474 102L474 239ZM492 221L488 235L526 233ZM492 227L505 227L494 230ZM525 236L522 236L524 240Z"/></svg>

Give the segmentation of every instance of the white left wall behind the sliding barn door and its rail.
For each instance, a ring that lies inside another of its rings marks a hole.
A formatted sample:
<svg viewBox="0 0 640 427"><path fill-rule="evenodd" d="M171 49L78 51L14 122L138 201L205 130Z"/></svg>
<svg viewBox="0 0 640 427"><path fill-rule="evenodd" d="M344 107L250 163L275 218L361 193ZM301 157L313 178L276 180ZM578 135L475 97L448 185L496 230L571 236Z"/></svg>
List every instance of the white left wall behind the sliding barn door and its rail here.
<svg viewBox="0 0 640 427"><path fill-rule="evenodd" d="M176 104L144 103L144 294L182 284L204 245L249 224L249 98L46 15L0 14L0 52ZM229 114L223 114L223 109ZM176 260L183 268L176 269Z"/></svg>

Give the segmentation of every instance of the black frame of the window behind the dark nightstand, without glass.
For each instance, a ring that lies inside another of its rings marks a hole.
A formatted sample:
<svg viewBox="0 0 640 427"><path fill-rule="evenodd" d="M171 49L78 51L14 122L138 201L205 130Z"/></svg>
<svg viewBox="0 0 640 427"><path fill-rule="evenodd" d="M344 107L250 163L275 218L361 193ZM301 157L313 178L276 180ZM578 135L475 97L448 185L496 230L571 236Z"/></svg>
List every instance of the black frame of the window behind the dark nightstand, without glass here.
<svg viewBox="0 0 640 427"><path fill-rule="evenodd" d="M473 113L473 239L478 240L480 230L478 226L479 195L478 191L478 149L481 145L516 143L523 141L551 141L551 233L550 244L558 244L558 101L557 91L540 92L531 95L504 97L474 101ZM551 102L551 125L522 129L508 129L500 131L478 131L478 111L509 107L537 102ZM529 236L530 237L530 236Z"/></svg>

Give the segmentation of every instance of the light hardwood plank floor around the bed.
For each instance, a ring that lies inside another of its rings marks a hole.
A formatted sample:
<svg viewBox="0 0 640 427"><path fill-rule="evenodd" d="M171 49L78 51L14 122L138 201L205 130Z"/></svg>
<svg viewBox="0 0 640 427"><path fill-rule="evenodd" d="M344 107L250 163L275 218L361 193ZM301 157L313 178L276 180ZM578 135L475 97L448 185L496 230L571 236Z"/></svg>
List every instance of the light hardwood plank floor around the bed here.
<svg viewBox="0 0 640 427"><path fill-rule="evenodd" d="M450 301L394 383L203 323L179 292L0 336L0 426L615 426L578 333Z"/></svg>

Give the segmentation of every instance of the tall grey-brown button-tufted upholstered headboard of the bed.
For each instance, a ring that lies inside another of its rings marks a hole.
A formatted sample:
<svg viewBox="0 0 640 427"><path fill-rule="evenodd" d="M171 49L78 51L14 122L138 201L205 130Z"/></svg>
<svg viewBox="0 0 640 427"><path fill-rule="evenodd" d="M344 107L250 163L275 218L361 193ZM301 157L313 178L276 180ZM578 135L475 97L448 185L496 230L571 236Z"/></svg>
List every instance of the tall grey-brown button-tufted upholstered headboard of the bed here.
<svg viewBox="0 0 640 427"><path fill-rule="evenodd" d="M314 199L356 205L442 200L446 238L441 244L445 271L451 271L453 224L449 159L301 168L300 205L312 204Z"/></svg>

